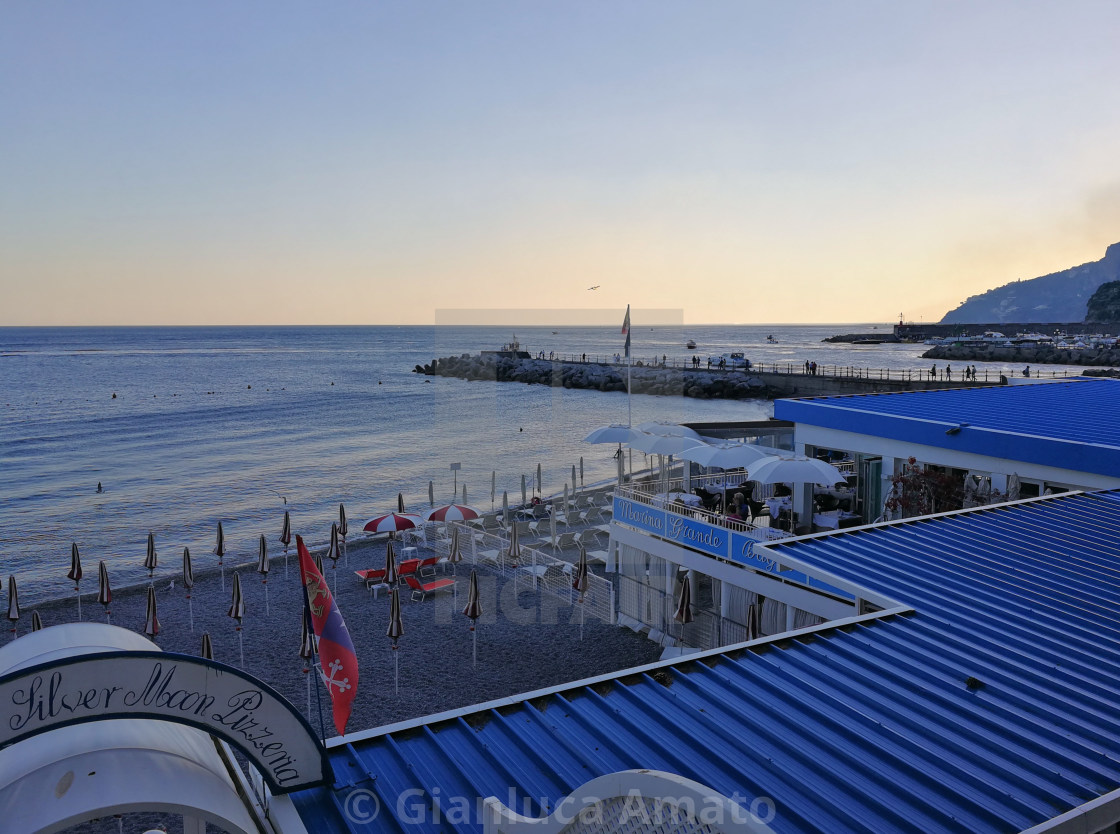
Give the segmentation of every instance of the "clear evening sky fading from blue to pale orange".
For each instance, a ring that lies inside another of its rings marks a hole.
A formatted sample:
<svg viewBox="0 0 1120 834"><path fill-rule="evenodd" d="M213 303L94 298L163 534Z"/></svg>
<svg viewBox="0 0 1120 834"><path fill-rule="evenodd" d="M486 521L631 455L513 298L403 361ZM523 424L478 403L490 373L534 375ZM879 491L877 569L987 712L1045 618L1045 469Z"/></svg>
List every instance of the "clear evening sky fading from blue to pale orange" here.
<svg viewBox="0 0 1120 834"><path fill-rule="evenodd" d="M1118 43L1114 0L2 3L0 325L936 320L1120 241Z"/></svg>

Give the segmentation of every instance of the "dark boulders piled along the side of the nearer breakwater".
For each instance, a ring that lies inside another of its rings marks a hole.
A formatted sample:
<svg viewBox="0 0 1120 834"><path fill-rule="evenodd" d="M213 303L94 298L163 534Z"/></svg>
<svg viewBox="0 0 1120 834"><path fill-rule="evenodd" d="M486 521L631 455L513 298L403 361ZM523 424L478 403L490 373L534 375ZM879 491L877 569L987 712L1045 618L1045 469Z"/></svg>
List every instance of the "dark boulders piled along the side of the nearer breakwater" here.
<svg viewBox="0 0 1120 834"><path fill-rule="evenodd" d="M428 365L417 365L413 372L458 379L521 382L529 385L553 385L591 391L626 391L625 365L590 362L553 362L463 354L432 359ZM631 388L635 394L691 396L699 400L769 400L780 395L780 392L764 383L758 374L706 368L665 368L652 365L633 366Z"/></svg>

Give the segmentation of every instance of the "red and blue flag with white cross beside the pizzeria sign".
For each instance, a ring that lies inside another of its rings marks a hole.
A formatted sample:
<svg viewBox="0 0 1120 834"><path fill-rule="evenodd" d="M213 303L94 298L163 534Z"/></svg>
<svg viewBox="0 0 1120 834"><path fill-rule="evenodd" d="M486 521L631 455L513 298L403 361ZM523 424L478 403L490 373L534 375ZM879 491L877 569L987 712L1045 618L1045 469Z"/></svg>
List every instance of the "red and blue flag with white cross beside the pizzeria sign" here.
<svg viewBox="0 0 1120 834"><path fill-rule="evenodd" d="M330 695L335 729L339 735L345 735L351 704L357 694L357 655L354 653L354 641L351 640L338 606L335 605L323 574L316 569L302 536L296 536L296 547L299 552L299 572L307 607L311 615L311 628L319 644L323 682Z"/></svg>

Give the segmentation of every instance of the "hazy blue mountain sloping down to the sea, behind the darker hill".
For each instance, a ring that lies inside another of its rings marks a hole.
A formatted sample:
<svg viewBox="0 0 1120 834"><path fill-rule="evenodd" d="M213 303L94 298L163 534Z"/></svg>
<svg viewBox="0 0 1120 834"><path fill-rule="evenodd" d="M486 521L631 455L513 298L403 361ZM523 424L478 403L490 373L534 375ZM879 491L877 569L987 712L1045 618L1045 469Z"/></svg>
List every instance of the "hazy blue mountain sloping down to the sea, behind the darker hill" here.
<svg viewBox="0 0 1120 834"><path fill-rule="evenodd" d="M1101 284L1120 280L1120 243L1100 261L1042 278L1015 281L972 296L941 319L944 325L1084 321L1089 299Z"/></svg>

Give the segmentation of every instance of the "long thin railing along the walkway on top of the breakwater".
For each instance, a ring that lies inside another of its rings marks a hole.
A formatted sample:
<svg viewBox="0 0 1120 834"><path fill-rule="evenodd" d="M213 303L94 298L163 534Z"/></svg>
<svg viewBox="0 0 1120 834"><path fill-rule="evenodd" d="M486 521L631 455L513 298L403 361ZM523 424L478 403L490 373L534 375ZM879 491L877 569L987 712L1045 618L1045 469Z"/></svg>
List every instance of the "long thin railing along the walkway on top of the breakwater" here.
<svg viewBox="0 0 1120 834"><path fill-rule="evenodd" d="M562 362L575 365L615 365L619 368L626 367L626 359L623 357L616 358L613 355L600 355L600 354L534 354L534 359L547 359L550 362ZM952 368L952 363L949 363L950 368ZM717 363L708 364L707 358L700 362L699 365L693 365L691 362L685 362L684 359L665 357L645 357L635 358L634 367L652 367L652 368L670 368L676 371L685 372L706 372L706 373L750 373L750 374L781 374L783 376L827 376L833 379L867 379L867 381L892 381L896 379L898 382L977 382L977 383L998 383L1001 378L1006 377L1007 374L1001 373L998 368L989 367L978 367L976 376L963 376L962 371L945 372L944 367L936 367L936 365L930 365L928 367L922 368L872 368L872 367L860 367L857 365L816 365L813 366L810 363L810 367L805 367L804 363L796 362L752 362L749 368L745 367L719 367ZM1030 378L1057 378L1062 376L1068 376L1071 372L1067 371L1033 371Z"/></svg>

